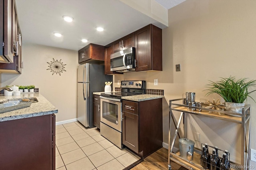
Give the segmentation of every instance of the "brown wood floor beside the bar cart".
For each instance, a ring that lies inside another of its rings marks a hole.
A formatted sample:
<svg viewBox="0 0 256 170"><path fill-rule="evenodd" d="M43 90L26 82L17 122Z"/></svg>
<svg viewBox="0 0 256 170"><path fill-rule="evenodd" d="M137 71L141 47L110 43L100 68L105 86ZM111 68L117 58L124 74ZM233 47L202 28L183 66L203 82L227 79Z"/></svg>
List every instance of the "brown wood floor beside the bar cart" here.
<svg viewBox="0 0 256 170"><path fill-rule="evenodd" d="M186 168L171 162L172 170L186 170ZM168 170L168 150L161 148L144 158L144 161L131 170Z"/></svg>

